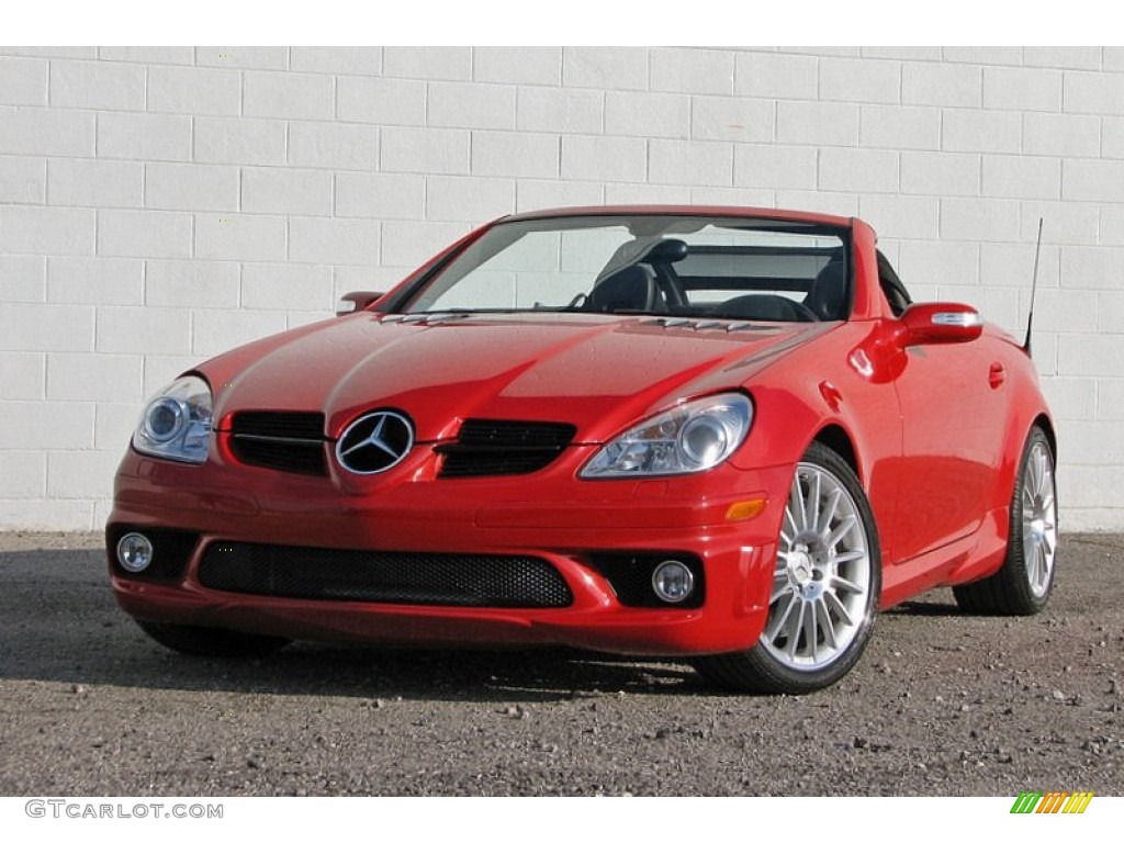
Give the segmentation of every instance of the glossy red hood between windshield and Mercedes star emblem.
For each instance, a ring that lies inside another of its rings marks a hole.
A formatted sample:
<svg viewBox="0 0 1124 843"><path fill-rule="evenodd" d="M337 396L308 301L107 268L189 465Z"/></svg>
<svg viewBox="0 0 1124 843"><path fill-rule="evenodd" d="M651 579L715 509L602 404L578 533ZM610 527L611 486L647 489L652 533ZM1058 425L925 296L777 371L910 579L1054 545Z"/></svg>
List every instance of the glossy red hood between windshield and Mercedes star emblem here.
<svg viewBox="0 0 1124 843"><path fill-rule="evenodd" d="M419 442L489 418L568 422L579 442L593 443L680 397L744 383L835 325L664 321L361 312L252 343L198 371L215 390L220 427L239 410L323 411L336 437L365 410L396 408L414 419Z"/></svg>

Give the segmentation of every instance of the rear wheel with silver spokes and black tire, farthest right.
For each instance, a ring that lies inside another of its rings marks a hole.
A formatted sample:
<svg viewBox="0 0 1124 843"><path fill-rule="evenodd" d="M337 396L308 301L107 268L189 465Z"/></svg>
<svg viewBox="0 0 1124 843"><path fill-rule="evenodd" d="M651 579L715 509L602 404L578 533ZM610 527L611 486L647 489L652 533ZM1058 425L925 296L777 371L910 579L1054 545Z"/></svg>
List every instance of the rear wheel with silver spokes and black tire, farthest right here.
<svg viewBox="0 0 1124 843"><path fill-rule="evenodd" d="M1053 589L1058 555L1058 490L1054 455L1041 427L1023 445L1010 496L1007 556L992 575L953 586L960 608L985 615L1034 615Z"/></svg>

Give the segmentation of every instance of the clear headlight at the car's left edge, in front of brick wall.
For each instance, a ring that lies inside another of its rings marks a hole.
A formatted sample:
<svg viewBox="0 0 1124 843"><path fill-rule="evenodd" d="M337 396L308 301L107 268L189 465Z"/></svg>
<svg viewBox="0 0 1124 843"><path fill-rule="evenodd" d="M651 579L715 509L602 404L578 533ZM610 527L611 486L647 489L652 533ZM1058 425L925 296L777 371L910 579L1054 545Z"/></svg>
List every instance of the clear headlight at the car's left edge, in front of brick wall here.
<svg viewBox="0 0 1124 843"><path fill-rule="evenodd" d="M211 439L211 393L202 378L180 378L148 401L133 434L142 454L201 463Z"/></svg>

